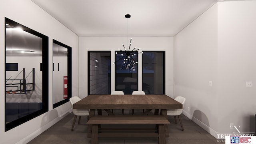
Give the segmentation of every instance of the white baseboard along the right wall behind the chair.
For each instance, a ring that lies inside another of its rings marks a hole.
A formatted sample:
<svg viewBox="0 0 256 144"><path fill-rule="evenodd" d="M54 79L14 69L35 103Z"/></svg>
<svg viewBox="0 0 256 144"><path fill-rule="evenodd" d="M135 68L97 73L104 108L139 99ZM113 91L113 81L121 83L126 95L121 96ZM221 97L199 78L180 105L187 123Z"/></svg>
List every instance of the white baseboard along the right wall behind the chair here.
<svg viewBox="0 0 256 144"><path fill-rule="evenodd" d="M184 114L186 117L188 117L190 120L195 122L198 126L203 128L204 130L206 130L206 132L208 132L209 134L214 136L214 138L220 139L220 138L218 138L218 132L216 132L215 130L213 130L212 128L210 128L209 126L207 126L206 124L204 124L203 122L201 122L200 120L195 118L194 116L190 115L188 112L183 110L182 114Z"/></svg>

